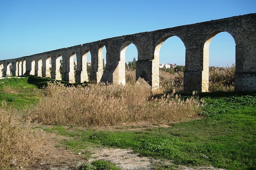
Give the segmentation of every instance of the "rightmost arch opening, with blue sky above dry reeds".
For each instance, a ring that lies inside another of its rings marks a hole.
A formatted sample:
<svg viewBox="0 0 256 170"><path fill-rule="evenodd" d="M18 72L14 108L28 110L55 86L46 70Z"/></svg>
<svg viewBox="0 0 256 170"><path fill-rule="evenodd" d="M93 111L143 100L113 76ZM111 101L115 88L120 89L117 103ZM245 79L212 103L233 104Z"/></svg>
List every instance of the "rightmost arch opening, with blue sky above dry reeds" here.
<svg viewBox="0 0 256 170"><path fill-rule="evenodd" d="M236 72L236 42L225 31L213 33L204 43L204 91L234 91Z"/></svg>

